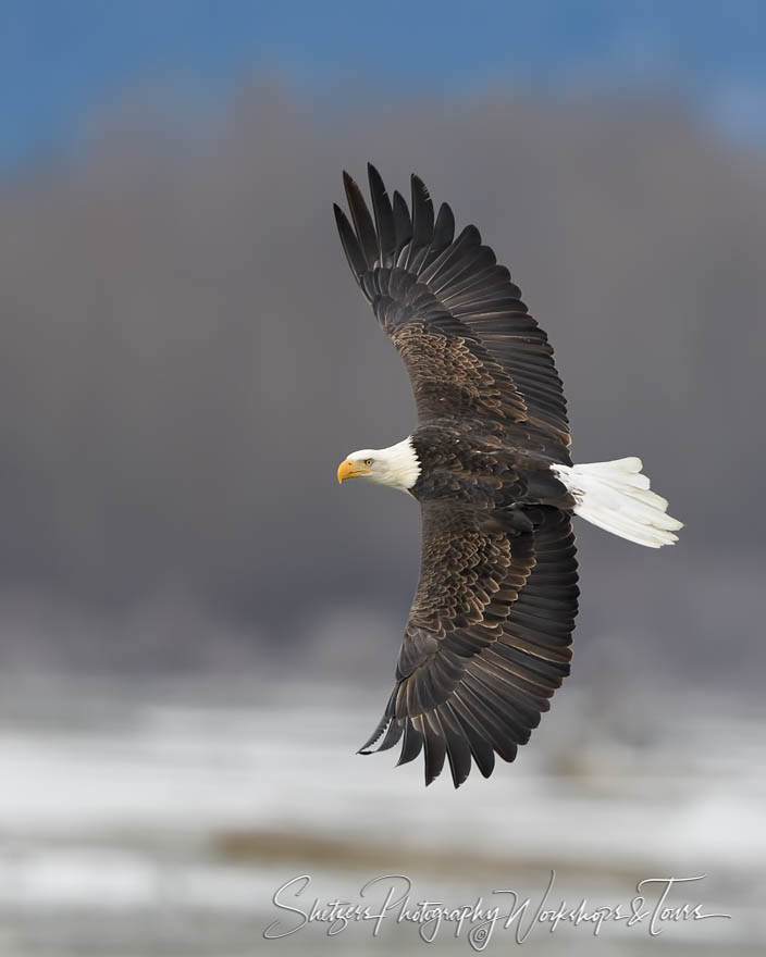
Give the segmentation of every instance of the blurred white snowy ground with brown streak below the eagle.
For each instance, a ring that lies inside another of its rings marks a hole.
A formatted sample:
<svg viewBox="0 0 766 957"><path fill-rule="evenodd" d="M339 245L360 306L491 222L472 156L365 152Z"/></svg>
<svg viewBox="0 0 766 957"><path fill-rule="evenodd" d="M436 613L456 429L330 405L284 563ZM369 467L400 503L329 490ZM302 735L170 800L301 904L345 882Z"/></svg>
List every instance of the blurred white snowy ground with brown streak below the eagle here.
<svg viewBox="0 0 766 957"><path fill-rule="evenodd" d="M706 874L668 903L731 919L666 921L656 937L616 921L595 942L592 925L541 923L528 954L763 953L764 714L660 692L594 711L570 692L515 766L425 791L419 763L354 754L378 697L324 685L328 707L235 684L2 688L2 957L423 953L417 922L393 918L374 937L370 922L262 934L299 921L272 897L301 874L296 907L358 903L381 874L409 877L413 902L515 890L536 907L552 870L547 907L627 907L642 879ZM472 953L446 922L437 941ZM487 953L511 946L496 929Z"/></svg>

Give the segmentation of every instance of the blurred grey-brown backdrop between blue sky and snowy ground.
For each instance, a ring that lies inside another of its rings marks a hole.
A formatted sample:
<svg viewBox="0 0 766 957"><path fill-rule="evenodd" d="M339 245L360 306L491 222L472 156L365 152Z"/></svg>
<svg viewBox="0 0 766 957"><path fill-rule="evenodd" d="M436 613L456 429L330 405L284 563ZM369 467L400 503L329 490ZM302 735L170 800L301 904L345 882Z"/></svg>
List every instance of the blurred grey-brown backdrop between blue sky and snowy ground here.
<svg viewBox="0 0 766 957"><path fill-rule="evenodd" d="M642 456L687 522L662 552L583 532L583 667L766 663L763 156L659 100L318 113L263 84L182 133L149 100L0 185L0 663L208 668L279 645L300 672L318 643L342 673L393 667L417 507L335 482L412 424L332 219L368 159L392 189L417 171L510 266L576 459Z"/></svg>

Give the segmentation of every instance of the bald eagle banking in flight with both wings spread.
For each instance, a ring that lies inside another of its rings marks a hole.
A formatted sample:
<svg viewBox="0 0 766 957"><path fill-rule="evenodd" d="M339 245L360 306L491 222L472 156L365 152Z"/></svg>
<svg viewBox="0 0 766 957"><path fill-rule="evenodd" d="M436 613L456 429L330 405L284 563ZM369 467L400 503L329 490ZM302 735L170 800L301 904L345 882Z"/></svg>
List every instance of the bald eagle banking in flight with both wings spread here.
<svg viewBox="0 0 766 957"><path fill-rule="evenodd" d="M344 173L335 219L351 272L409 373L418 424L351 452L338 482L366 478L420 502L420 580L385 713L361 754L401 739L445 759L458 787L512 761L569 674L578 609L572 515L650 548L681 523L634 457L573 464L547 336L475 226L456 237L418 176L411 203L368 167L372 213ZM373 746L378 744L378 747Z"/></svg>

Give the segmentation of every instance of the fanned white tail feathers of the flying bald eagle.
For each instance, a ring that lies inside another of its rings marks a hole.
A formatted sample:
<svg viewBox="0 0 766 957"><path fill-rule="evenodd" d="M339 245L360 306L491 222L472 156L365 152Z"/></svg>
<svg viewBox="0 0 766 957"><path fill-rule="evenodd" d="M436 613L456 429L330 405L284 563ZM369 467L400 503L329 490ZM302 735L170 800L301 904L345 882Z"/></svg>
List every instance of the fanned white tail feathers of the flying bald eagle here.
<svg viewBox="0 0 766 957"><path fill-rule="evenodd" d="M667 501L650 492L641 459L631 457L588 465L552 465L574 497L574 512L621 538L659 548L678 542L683 523L667 514Z"/></svg>

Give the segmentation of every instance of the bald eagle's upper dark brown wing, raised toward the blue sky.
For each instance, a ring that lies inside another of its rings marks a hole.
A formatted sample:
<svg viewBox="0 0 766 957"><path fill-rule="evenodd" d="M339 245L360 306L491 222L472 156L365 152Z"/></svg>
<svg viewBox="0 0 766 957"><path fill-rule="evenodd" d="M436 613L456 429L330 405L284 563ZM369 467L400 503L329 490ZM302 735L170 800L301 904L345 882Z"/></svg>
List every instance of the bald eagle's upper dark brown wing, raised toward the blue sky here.
<svg viewBox="0 0 766 957"><path fill-rule="evenodd" d="M470 414L499 423L514 445L570 463L561 381L547 336L475 226L455 238L412 176L411 215L370 165L372 215L344 173L351 222L335 206L356 279L409 372L421 422Z"/></svg>

